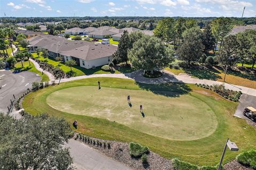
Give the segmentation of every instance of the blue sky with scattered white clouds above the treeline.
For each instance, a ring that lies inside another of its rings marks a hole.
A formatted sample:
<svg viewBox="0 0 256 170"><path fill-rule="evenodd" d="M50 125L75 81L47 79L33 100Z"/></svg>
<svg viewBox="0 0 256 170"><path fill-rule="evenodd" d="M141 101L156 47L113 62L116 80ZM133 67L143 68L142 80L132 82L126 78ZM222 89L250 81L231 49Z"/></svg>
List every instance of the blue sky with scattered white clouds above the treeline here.
<svg viewBox="0 0 256 170"><path fill-rule="evenodd" d="M256 0L0 0L0 16L256 16Z"/></svg>

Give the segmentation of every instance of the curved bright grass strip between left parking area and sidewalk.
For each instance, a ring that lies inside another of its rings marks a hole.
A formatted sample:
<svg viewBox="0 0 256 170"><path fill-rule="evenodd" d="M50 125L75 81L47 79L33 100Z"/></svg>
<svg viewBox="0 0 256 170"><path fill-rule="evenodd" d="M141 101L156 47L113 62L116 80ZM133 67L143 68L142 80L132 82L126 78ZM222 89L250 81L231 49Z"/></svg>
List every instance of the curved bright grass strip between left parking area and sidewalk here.
<svg viewBox="0 0 256 170"><path fill-rule="evenodd" d="M41 76L42 78L41 82L50 81L49 77L46 74L42 74L42 72L38 71L32 62L30 62L30 66L29 66L29 62L25 61L23 62L23 66L24 67L22 68L21 62L18 62L17 64L15 64L15 70L34 72Z"/></svg>

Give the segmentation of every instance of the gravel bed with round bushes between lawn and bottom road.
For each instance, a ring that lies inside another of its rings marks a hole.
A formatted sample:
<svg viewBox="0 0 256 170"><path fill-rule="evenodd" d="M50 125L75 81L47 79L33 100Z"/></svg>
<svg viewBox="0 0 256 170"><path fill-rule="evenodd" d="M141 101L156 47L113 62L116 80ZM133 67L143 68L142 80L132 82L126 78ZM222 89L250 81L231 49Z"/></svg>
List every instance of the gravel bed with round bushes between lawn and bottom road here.
<svg viewBox="0 0 256 170"><path fill-rule="evenodd" d="M166 158L161 157L158 154L155 154L154 152L149 152L148 154L148 163L142 164L140 158L132 158L129 154L129 143L122 143L122 142L116 142L116 141L108 141L108 140L101 140L97 138L90 139L95 141L101 141L110 143L110 148L108 148L108 145L106 147L97 145L97 142L95 145L93 143L86 143L86 145L90 146L91 148L97 149L98 151L102 152L103 154L117 160L118 162L121 162L127 166L129 166L132 169L161 169L161 170L173 170L172 167L172 161ZM78 140L78 139L77 139ZM79 139L79 141L81 141ZM83 142L83 141L81 141ZM149 148L150 149L150 148Z"/></svg>

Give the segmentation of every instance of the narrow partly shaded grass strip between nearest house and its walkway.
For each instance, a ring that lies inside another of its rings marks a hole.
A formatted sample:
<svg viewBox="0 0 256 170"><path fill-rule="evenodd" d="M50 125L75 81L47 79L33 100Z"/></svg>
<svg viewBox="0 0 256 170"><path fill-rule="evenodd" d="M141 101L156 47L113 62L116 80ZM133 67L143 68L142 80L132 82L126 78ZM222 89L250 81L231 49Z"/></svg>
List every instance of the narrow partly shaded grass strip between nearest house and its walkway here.
<svg viewBox="0 0 256 170"><path fill-rule="evenodd" d="M38 55L36 53L31 53L35 58L41 60L41 61L44 61L44 60L47 60L49 64L52 64L53 66L58 66L59 62L58 61L55 61L53 58L44 58L42 56L42 53L40 53L40 57L38 57ZM70 67L69 66L66 66L65 64L61 63L60 64L60 69L62 69L65 73L69 72L70 71ZM72 67L72 70L74 72L76 72L76 76L79 76L79 75L89 75L89 74L102 74L102 73L105 73L105 74L108 74L108 73L111 73L111 72L107 72L107 71L103 71L101 70L101 66L99 67L95 67L95 69L85 69L81 66L78 66L78 65L75 65ZM118 71L115 71L115 73L120 73Z"/></svg>

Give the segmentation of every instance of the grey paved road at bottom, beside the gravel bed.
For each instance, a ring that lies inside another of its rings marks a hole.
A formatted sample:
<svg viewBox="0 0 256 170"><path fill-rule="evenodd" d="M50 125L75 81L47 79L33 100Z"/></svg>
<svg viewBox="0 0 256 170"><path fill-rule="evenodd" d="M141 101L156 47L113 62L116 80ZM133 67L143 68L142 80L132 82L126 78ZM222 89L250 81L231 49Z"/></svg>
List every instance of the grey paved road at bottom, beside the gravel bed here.
<svg viewBox="0 0 256 170"><path fill-rule="evenodd" d="M70 154L75 158L74 165L79 170L130 169L116 160L113 160L74 139L70 139L66 146L70 147Z"/></svg>

